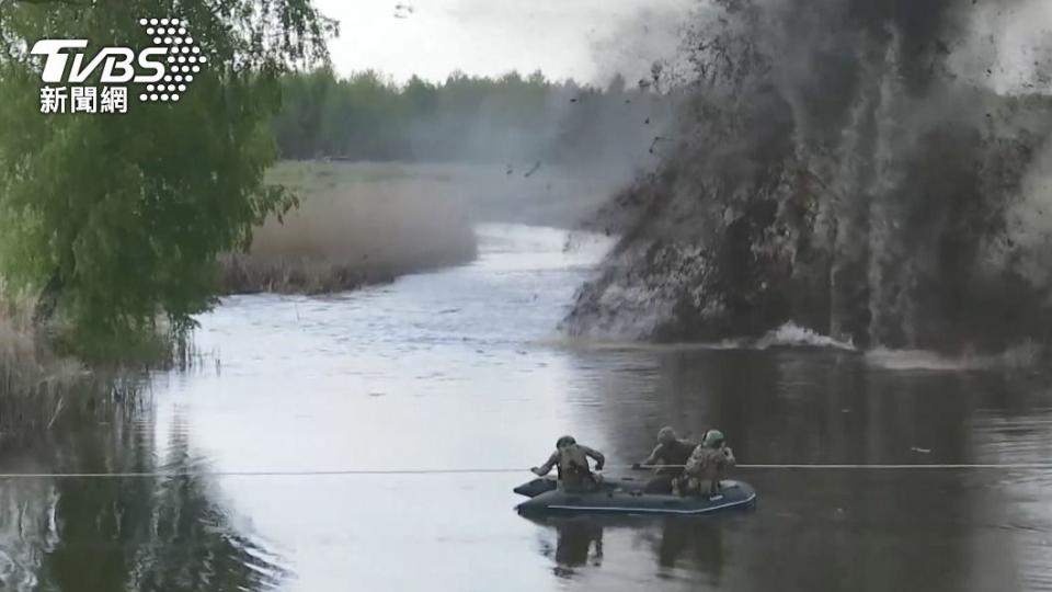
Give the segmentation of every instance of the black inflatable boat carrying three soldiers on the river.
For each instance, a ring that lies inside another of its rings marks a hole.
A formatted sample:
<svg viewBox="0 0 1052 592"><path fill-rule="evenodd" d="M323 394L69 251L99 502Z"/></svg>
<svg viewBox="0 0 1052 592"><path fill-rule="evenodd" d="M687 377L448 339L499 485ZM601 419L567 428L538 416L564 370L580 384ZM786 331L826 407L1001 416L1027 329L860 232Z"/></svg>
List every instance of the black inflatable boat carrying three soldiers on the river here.
<svg viewBox="0 0 1052 592"><path fill-rule="evenodd" d="M515 506L521 514L647 514L702 515L747 510L756 504L756 491L746 482L724 480L717 496L678 497L644 493L643 482L630 477L604 480L597 491L567 493L556 480L534 479L514 489L529 500Z"/></svg>

